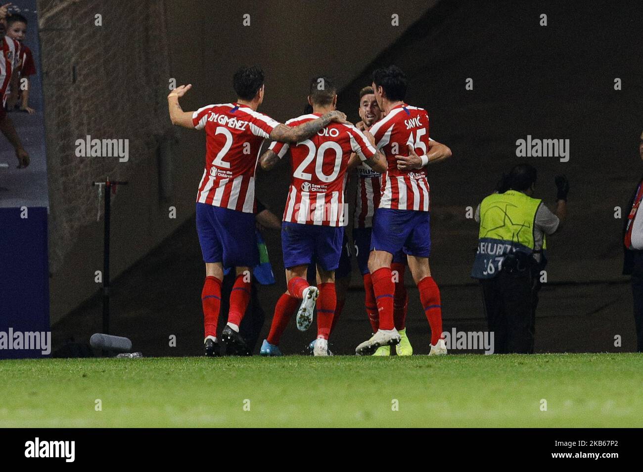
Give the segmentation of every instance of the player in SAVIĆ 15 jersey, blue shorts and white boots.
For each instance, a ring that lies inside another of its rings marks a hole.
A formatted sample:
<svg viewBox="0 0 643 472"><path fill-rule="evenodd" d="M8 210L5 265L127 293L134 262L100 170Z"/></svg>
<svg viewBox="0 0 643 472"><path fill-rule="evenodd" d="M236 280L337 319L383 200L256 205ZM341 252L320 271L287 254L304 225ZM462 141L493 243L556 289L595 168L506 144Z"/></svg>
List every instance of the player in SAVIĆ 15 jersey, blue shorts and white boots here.
<svg viewBox="0 0 643 472"><path fill-rule="evenodd" d="M372 78L377 103L386 114L370 128L377 148L385 153L387 162L368 259L379 311L379 329L372 338L358 345L356 352L372 354L383 345L395 345L400 341L394 326L395 285L391 263L393 255L403 250L431 326L431 354L446 354L440 292L431 277L428 259L431 231L426 166L447 159L451 150L429 141L426 110L404 103L406 76L398 67L377 69Z"/></svg>

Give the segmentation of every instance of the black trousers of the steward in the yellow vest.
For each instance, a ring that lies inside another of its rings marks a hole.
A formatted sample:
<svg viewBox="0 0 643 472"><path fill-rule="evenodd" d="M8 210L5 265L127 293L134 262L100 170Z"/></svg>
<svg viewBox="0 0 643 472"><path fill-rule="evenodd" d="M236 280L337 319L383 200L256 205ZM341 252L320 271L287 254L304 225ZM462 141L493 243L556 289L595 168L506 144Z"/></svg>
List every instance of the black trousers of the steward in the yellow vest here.
<svg viewBox="0 0 643 472"><path fill-rule="evenodd" d="M539 285L529 271L500 272L482 279L485 317L494 333L494 353L532 354Z"/></svg>

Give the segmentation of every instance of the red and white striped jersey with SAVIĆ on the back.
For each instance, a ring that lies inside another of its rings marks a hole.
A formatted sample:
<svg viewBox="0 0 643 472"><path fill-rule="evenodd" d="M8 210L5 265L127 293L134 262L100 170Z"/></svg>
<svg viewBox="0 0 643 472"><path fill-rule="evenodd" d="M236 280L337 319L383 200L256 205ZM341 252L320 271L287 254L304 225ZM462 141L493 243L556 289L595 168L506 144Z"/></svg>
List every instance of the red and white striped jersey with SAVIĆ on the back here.
<svg viewBox="0 0 643 472"><path fill-rule="evenodd" d="M412 144L418 155L426 154L429 145L429 114L426 110L403 103L377 121L370 132L377 148L386 155L388 169L382 175L379 208L429 211L429 182L426 168L398 170L395 155L408 155Z"/></svg>

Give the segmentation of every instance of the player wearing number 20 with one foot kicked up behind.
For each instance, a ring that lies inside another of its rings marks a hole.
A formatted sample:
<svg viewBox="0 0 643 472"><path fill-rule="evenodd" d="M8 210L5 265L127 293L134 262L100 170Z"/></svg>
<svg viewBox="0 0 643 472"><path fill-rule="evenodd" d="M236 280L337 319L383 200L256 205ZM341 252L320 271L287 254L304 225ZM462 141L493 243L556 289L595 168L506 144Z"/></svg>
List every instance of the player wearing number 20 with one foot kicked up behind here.
<svg viewBox="0 0 643 472"><path fill-rule="evenodd" d="M327 77L311 81L309 103L312 114L287 121L296 126L316 119L335 109L336 87ZM261 354L280 355L280 337L297 305L297 327L305 331L311 322L315 302L317 308L317 340L313 353L328 353L328 337L336 309L334 272L340 263L344 227L348 211L344 202L346 171L354 153L376 171L384 171L384 156L352 125L333 123L322 128L311 139L296 146L273 143L261 157L264 170L272 168L287 152L291 155L292 177L284 210L282 249L288 290L275 307L270 333ZM372 139L372 136L370 136ZM306 280L312 261L317 265L317 286ZM303 301L302 301L303 300Z"/></svg>

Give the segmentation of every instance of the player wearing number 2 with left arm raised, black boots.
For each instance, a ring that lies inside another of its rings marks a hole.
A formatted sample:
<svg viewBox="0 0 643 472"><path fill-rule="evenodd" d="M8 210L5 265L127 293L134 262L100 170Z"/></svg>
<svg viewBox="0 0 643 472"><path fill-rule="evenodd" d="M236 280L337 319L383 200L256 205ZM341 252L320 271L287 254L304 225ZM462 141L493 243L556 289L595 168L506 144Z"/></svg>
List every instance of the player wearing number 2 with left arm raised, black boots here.
<svg viewBox="0 0 643 472"><path fill-rule="evenodd" d="M259 261L255 232L255 168L264 139L297 143L314 135L332 121L345 121L333 110L299 127L287 127L257 112L264 100L264 73L241 67L233 77L237 101L208 105L184 112L179 105L191 85L181 85L168 95L174 125L204 130L206 157L197 192L197 232L206 280L203 301L206 355L219 353L217 319L224 268L235 267L237 279L230 295L228 324L221 337L228 351L242 352L245 343L239 324L248 306L251 268Z"/></svg>

